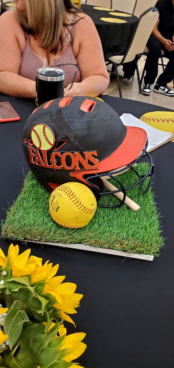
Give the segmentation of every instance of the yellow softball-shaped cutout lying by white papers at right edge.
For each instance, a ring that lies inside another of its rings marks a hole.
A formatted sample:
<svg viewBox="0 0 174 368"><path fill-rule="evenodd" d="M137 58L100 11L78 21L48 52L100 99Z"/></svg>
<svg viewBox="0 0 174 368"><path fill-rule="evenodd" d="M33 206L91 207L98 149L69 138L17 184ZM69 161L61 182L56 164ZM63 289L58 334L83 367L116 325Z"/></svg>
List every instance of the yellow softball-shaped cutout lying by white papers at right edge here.
<svg viewBox="0 0 174 368"><path fill-rule="evenodd" d="M174 112L154 111L142 115L140 120L163 132L171 132L174 137ZM174 139L171 142L174 142Z"/></svg>

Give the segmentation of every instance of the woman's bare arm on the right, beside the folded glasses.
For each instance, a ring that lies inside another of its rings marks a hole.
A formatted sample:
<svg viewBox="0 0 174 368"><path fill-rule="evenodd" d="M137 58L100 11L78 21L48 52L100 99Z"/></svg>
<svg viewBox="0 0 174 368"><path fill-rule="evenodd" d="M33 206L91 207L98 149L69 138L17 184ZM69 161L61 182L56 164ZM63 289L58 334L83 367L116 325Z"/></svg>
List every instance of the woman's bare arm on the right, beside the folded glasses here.
<svg viewBox="0 0 174 368"><path fill-rule="evenodd" d="M81 73L81 82L65 89L65 96L96 97L106 91L109 75L106 70L102 44L93 21L85 14L75 25L73 52ZM77 55L76 55L77 54Z"/></svg>

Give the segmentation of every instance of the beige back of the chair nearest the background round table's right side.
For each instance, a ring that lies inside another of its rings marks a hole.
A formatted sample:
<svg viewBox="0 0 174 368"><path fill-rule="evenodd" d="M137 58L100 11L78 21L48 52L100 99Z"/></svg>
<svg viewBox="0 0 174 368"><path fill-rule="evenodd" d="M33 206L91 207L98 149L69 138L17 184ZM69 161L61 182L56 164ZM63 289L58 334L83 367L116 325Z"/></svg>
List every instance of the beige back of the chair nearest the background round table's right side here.
<svg viewBox="0 0 174 368"><path fill-rule="evenodd" d="M146 43L148 42L149 36L151 35L158 18L159 13L157 10L149 10L147 14L143 15L139 21L132 45L127 53L127 57L142 54L144 52Z"/></svg>

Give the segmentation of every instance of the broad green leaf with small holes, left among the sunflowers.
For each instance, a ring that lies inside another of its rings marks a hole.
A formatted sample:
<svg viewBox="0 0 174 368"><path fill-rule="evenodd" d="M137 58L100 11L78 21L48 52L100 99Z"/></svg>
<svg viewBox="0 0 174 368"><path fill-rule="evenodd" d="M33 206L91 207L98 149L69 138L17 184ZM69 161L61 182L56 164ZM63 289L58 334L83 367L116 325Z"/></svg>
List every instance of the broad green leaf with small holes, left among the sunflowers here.
<svg viewBox="0 0 174 368"><path fill-rule="evenodd" d="M5 333L9 336L8 343L10 349L17 341L24 322L29 321L27 314L24 311L21 311L20 308L21 302L19 300L15 300L11 308L9 309L4 321L4 330Z"/></svg>

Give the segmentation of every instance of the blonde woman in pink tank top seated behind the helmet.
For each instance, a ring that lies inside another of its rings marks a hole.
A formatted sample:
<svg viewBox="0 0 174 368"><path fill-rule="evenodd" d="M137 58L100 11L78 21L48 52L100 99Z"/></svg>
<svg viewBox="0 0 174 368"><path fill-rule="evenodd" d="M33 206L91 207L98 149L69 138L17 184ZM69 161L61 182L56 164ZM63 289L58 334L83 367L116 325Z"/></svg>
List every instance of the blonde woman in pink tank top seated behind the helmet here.
<svg viewBox="0 0 174 368"><path fill-rule="evenodd" d="M103 93L108 84L102 45L92 20L71 0L15 0L0 17L0 92L35 98L37 69L77 64L65 70L65 96Z"/></svg>

